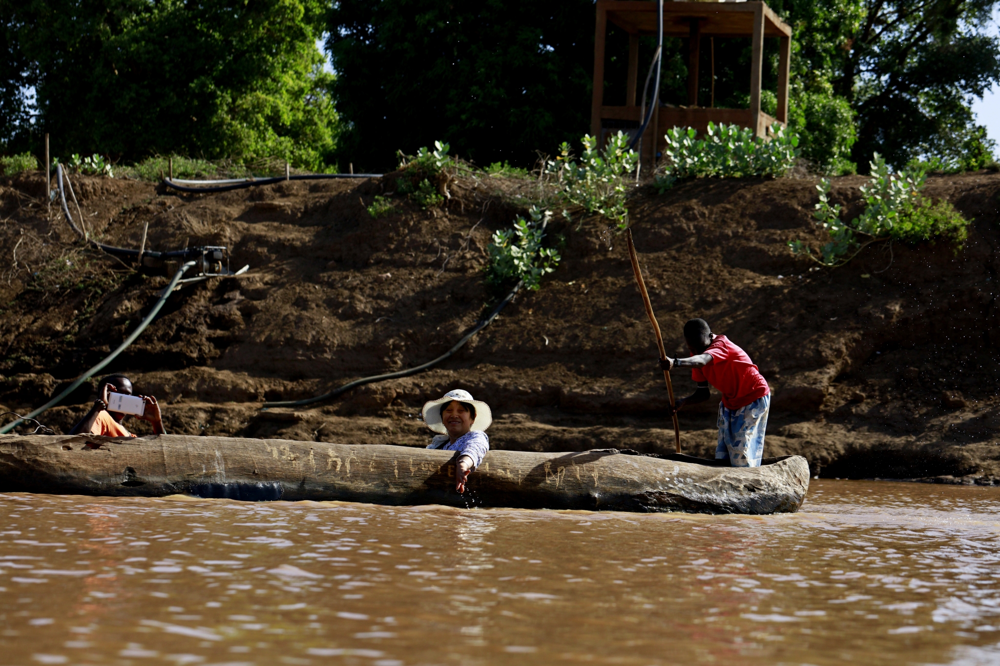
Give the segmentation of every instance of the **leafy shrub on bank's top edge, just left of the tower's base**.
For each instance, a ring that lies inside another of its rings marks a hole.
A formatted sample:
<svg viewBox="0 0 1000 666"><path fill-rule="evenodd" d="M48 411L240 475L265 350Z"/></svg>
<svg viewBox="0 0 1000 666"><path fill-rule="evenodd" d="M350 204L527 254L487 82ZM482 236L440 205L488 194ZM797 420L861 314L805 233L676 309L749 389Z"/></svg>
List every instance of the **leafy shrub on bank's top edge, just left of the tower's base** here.
<svg viewBox="0 0 1000 666"><path fill-rule="evenodd" d="M569 144L559 147L559 157L548 165L558 176L561 196L571 204L583 207L587 213L597 213L628 227L625 200L631 187L626 179L635 170L639 154L629 150L630 138L623 132L612 136L604 150L597 148L597 139L589 134L582 139L583 154L577 162Z"/></svg>

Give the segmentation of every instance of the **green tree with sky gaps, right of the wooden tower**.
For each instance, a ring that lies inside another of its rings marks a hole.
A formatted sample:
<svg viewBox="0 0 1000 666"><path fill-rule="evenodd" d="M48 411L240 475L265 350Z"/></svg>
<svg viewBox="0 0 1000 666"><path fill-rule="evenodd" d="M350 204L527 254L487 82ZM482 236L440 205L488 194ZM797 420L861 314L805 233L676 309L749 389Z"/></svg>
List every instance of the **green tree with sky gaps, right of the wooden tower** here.
<svg viewBox="0 0 1000 666"><path fill-rule="evenodd" d="M839 98L856 114L852 161L867 165L878 152L896 166L933 156L966 169L992 160L992 143L976 126L970 106L1000 81L1000 42L987 34L997 4L772 2L795 29L793 63L802 92L820 96L816 101ZM830 112L845 117L832 106ZM832 146L831 139L819 141Z"/></svg>

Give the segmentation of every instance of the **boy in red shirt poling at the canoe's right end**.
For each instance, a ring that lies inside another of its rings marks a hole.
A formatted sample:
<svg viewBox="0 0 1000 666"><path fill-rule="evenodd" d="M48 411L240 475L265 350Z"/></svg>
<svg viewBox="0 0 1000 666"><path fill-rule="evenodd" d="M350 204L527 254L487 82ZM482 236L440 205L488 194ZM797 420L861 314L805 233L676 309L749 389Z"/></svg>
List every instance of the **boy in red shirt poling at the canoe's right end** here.
<svg viewBox="0 0 1000 666"><path fill-rule="evenodd" d="M684 325L684 339L692 355L660 361L665 370L690 367L698 387L682 404L697 404L709 397L708 384L722 393L719 403L719 445L716 459L729 459L733 467L758 467L764 455L764 430L771 407L771 389L746 351L725 335L716 335L705 320Z"/></svg>

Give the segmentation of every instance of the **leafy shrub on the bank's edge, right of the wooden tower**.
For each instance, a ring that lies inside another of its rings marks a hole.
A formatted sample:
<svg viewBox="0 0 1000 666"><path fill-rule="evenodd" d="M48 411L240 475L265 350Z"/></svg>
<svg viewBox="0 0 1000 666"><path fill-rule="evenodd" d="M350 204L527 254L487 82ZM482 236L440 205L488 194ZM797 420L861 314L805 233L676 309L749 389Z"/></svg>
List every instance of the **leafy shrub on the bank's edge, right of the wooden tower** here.
<svg viewBox="0 0 1000 666"><path fill-rule="evenodd" d="M883 241L916 244L945 239L961 247L968 235L969 221L948 202L934 202L920 194L927 180L921 167L890 172L885 160L875 153L871 178L861 187L865 209L850 222L840 219L839 204L830 205L830 181L816 186L819 203L814 214L817 224L830 234L818 257L802 241L788 243L794 255L804 255L826 267L843 266L866 246Z"/></svg>

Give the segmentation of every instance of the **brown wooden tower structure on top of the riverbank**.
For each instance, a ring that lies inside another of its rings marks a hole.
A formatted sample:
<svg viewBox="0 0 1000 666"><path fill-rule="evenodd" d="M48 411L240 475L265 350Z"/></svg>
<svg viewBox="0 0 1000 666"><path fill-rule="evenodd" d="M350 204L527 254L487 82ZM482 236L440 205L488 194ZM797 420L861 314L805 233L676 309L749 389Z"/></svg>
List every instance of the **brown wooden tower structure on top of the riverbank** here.
<svg viewBox="0 0 1000 666"><path fill-rule="evenodd" d="M594 34L594 96L591 104L590 132L602 140L608 132L617 132L628 121L638 127L642 109L637 106L639 84L639 37L656 30L657 4L650 0L597 0L597 24ZM628 82L625 106L604 106L604 44L608 23L629 35ZM788 73L792 29L760 0L749 2L671 2L663 3L663 36L688 39L688 104L686 107L660 107L653 114L643 136L642 153L653 155L664 145L663 131L671 127L693 127L699 134L708 123L726 123L751 128L755 136L764 136L775 122L788 122ZM698 106L698 57L701 40L706 37L749 37L753 52L750 67L750 108L716 109ZM761 79L764 64L764 38L781 40L778 65L777 118L760 109ZM650 97L652 97L650 91ZM649 102L647 102L648 104ZM608 127L618 125L619 127Z"/></svg>

